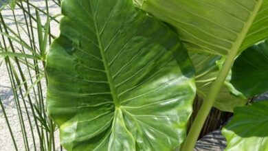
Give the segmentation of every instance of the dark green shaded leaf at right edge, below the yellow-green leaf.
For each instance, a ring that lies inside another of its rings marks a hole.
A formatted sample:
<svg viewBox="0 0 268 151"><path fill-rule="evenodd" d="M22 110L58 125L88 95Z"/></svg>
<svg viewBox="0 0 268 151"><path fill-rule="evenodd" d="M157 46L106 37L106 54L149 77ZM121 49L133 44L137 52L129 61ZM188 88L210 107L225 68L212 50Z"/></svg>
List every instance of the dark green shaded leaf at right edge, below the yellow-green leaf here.
<svg viewBox="0 0 268 151"><path fill-rule="evenodd" d="M268 91L268 41L249 47L238 56L230 82L246 97Z"/></svg>

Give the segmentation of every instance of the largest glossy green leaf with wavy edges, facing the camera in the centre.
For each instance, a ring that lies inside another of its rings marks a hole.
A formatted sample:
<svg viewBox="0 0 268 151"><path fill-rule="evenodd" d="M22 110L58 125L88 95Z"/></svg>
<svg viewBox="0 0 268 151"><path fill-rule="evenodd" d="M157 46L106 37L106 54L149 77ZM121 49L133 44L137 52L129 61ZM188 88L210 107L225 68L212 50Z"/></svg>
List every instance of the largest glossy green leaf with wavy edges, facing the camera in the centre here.
<svg viewBox="0 0 268 151"><path fill-rule="evenodd" d="M64 0L47 55L47 110L67 150L172 150L186 136L193 67L176 34L131 0Z"/></svg>

